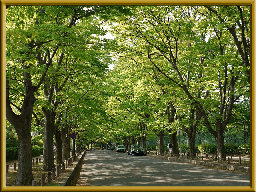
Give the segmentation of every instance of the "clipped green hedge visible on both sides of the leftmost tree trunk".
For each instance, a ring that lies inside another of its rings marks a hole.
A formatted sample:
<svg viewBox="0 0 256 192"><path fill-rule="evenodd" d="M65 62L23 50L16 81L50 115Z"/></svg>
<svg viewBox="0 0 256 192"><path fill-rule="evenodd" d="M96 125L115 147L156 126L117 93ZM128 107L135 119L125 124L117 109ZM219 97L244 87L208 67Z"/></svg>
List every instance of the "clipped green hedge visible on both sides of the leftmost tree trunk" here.
<svg viewBox="0 0 256 192"><path fill-rule="evenodd" d="M43 154L43 147L32 146L32 157L40 156ZM18 159L18 146L6 147L6 161L17 160Z"/></svg>

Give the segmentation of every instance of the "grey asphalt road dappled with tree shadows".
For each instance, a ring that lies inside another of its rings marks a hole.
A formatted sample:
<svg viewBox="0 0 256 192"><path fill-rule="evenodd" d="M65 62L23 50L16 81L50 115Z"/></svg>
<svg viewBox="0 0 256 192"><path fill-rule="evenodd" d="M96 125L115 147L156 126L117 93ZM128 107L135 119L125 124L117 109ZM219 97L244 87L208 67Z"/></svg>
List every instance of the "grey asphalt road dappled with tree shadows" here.
<svg viewBox="0 0 256 192"><path fill-rule="evenodd" d="M249 174L115 151L87 151L77 186L249 186Z"/></svg>

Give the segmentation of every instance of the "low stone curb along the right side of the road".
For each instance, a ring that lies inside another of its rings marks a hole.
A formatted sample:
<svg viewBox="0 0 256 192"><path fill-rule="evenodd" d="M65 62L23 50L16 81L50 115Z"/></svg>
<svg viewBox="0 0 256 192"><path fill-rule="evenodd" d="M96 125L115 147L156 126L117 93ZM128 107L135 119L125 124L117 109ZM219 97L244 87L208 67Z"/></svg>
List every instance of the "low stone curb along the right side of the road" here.
<svg viewBox="0 0 256 192"><path fill-rule="evenodd" d="M250 167L242 167L242 166L237 166L237 165L228 165L228 164L221 164L221 163L212 163L212 162L190 160L190 159L176 158L176 157L158 156L158 155L151 155L151 154L144 154L144 155L150 156L153 158L171 160L171 161L175 161L175 162L198 164L198 165L203 165L203 166L209 166L209 167L222 168L222 169L227 169L227 170L250 173Z"/></svg>

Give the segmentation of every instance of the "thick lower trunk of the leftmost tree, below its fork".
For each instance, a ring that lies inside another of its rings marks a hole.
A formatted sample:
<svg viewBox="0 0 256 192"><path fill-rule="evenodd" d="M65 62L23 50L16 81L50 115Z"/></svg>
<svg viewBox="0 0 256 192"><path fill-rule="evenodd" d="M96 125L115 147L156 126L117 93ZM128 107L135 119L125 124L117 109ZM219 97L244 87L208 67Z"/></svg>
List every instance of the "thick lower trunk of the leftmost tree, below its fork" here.
<svg viewBox="0 0 256 192"><path fill-rule="evenodd" d="M20 130L24 128L20 128ZM26 184L31 185L34 180L32 174L32 145L30 128L24 131L17 132L18 135L18 174L17 185Z"/></svg>

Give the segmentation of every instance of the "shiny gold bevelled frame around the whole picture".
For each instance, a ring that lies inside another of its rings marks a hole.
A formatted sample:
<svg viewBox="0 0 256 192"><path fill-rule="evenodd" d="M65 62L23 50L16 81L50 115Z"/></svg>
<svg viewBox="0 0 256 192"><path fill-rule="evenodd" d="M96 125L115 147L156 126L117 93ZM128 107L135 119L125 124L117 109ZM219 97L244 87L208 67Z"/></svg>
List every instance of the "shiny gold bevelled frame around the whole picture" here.
<svg viewBox="0 0 256 192"><path fill-rule="evenodd" d="M1 191L256 191L256 175L255 175L255 139L256 132L253 129L255 127L254 120L256 119L255 113L255 0L213 0L211 2L205 2L205 0L195 0L191 3L189 0L159 0L157 3L154 0L130 0L129 2L122 2L121 0L74 0L72 3L69 0L44 0L44 2L35 3L33 0L0 0L1 1ZM30 186L5 186L5 6L6 5L250 5L250 19L251 19L251 55L250 55L250 186L249 187L202 187L202 186L190 186L190 187L144 187L144 186L129 186L129 187L116 187L116 186L104 186L104 187L80 187L76 186L64 186L64 187L30 187Z"/></svg>

